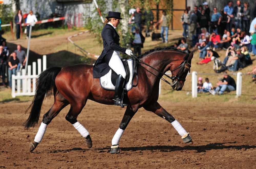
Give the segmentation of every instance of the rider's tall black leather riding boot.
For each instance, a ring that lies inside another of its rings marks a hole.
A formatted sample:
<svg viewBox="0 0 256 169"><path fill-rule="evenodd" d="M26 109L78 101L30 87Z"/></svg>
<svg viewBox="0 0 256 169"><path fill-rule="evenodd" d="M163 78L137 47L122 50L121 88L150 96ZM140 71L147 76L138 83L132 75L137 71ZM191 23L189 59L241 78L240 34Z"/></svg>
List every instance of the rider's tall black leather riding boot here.
<svg viewBox="0 0 256 169"><path fill-rule="evenodd" d="M118 75L116 79L116 84L115 84L115 99L114 99L114 105L115 106L128 106L128 104L123 103L122 99L122 93L124 90L124 78L122 75Z"/></svg>

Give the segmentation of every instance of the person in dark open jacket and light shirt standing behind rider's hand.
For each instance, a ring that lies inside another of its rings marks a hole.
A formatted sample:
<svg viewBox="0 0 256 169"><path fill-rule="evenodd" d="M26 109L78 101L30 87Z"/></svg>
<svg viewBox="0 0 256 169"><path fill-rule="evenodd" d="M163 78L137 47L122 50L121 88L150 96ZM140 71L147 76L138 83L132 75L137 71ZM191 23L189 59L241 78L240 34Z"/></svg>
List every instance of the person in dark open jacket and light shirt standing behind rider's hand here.
<svg viewBox="0 0 256 169"><path fill-rule="evenodd" d="M143 48L143 43L145 41L145 37L142 35L141 32L139 32L139 29L135 29L135 33L133 34L134 39L132 42L133 48L134 48L134 54L139 56L141 55L141 48Z"/></svg>

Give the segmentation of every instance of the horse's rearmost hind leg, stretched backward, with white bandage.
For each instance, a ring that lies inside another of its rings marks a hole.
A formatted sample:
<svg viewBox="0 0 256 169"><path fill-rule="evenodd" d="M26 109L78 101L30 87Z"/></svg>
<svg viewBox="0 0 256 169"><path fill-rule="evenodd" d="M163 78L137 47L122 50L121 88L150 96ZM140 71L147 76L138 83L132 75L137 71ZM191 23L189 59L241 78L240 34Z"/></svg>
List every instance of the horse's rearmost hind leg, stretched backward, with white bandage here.
<svg viewBox="0 0 256 169"><path fill-rule="evenodd" d="M60 95L59 93L56 94L54 104L52 105L50 110L48 110L43 116L42 123L35 136L34 142L31 142L29 145L30 152L32 152L37 147L37 145L41 142L42 138L44 137L47 125L68 104L69 102L62 95Z"/></svg>

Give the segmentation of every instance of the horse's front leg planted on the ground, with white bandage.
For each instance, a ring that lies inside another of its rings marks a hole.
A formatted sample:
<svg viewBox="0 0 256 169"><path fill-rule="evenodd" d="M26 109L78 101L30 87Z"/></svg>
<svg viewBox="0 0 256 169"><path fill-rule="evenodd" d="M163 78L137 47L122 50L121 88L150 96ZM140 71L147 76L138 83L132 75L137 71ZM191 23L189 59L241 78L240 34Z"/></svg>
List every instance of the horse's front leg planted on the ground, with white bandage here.
<svg viewBox="0 0 256 169"><path fill-rule="evenodd" d="M137 111L137 109L136 109ZM120 153L120 148L119 148L119 141L124 133L124 130L126 129L127 125L131 121L132 117L135 115L136 111L133 111L130 106L126 107L123 119L119 125L119 129L116 131L113 139L112 139L112 146L110 153Z"/></svg>

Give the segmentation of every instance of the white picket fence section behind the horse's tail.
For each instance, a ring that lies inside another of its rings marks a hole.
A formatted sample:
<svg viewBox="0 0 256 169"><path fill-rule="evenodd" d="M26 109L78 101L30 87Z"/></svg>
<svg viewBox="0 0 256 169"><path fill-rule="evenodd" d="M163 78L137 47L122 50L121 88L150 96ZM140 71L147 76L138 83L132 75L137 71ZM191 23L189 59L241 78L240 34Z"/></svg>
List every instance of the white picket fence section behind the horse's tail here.
<svg viewBox="0 0 256 169"><path fill-rule="evenodd" d="M37 59L37 74L36 62L33 62L33 71L31 74L31 65L28 65L27 75L25 69L22 72L17 71L17 75L12 75L12 97L16 96L33 96L36 91L36 80L41 71L46 69L46 55L43 55L43 70L41 70L41 59ZM32 82L31 82L32 81Z"/></svg>

